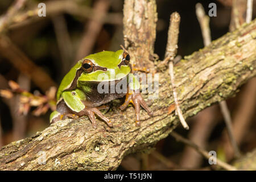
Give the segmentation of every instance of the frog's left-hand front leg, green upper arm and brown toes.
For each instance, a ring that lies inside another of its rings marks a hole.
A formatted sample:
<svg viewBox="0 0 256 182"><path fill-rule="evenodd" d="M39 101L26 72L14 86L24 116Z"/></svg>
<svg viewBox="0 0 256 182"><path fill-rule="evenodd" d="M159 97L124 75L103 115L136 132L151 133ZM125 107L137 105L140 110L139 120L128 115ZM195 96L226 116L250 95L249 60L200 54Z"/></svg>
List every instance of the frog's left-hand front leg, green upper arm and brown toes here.
<svg viewBox="0 0 256 182"><path fill-rule="evenodd" d="M94 114L103 119L110 127L113 126L112 122L99 110L106 109L108 106L100 106L98 108L85 106L83 101L86 100L86 96L80 89L65 91L63 92L62 96L65 104L69 107L69 109L72 110L72 113L78 115L79 117L87 115L94 128L97 127Z"/></svg>

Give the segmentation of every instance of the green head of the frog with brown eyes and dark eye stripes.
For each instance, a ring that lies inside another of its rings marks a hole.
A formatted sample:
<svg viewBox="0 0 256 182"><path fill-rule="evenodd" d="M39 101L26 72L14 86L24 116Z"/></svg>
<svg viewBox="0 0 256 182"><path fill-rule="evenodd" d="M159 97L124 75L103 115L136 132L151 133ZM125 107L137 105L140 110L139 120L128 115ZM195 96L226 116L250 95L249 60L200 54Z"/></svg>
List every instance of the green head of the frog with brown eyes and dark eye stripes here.
<svg viewBox="0 0 256 182"><path fill-rule="evenodd" d="M131 72L130 55L123 50L102 51L80 60L79 81L121 80Z"/></svg>

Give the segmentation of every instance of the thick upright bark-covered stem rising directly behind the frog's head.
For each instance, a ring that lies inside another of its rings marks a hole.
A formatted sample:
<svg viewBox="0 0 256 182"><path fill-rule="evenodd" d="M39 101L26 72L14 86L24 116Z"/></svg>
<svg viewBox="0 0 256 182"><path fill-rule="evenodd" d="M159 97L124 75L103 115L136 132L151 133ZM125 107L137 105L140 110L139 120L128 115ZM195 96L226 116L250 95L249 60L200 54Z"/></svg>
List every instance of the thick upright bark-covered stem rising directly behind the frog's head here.
<svg viewBox="0 0 256 182"><path fill-rule="evenodd" d="M123 35L125 47L136 68L154 68L154 43L156 36L155 0L125 1L123 6ZM136 57L136 59L134 59Z"/></svg>

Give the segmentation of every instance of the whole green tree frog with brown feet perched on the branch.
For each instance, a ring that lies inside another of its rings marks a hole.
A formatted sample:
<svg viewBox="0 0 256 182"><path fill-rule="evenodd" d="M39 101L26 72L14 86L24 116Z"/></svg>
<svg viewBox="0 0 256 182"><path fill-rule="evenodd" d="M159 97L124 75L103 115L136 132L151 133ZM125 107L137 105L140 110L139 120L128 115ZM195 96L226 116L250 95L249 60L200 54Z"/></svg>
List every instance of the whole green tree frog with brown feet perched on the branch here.
<svg viewBox="0 0 256 182"><path fill-rule="evenodd" d="M133 104L137 126L141 125L140 106L152 117L139 93L139 81L131 73L130 55L122 49L94 53L79 60L61 81L56 95L56 110L50 115L50 123L87 115L96 128L96 114L112 127L113 123L100 110L108 108L104 104L124 96L125 102L119 108Z"/></svg>

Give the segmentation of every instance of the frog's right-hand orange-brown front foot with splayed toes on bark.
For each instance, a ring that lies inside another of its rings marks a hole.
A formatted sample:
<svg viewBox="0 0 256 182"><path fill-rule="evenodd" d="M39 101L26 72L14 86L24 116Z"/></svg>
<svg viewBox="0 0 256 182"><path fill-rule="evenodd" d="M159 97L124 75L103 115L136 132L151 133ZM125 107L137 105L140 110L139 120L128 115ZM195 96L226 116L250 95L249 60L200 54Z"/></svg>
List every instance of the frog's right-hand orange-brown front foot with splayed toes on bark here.
<svg viewBox="0 0 256 182"><path fill-rule="evenodd" d="M144 99L141 96L141 93L134 93L134 92L133 93L127 93L126 98L125 98L125 102L119 108L121 110L123 110L130 103L134 105L135 116L136 116L136 126L141 126L141 119L139 117L139 111L141 109L140 106L142 106L147 111L147 113L148 113L148 115L150 115L150 117L153 116L153 112L151 111L150 107L147 106L146 102L144 101Z"/></svg>

